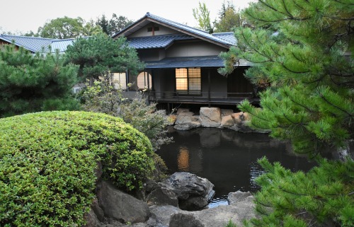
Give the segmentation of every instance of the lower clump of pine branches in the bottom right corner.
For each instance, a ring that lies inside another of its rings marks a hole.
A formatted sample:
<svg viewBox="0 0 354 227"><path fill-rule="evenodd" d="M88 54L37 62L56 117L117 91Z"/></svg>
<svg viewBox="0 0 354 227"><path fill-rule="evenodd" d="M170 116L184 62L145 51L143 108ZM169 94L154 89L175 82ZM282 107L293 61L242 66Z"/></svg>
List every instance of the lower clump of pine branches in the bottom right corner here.
<svg viewBox="0 0 354 227"><path fill-rule="evenodd" d="M256 210L263 219L246 226L354 226L354 161L319 161L309 173L292 173L266 158L256 179ZM286 212L285 212L286 209Z"/></svg>

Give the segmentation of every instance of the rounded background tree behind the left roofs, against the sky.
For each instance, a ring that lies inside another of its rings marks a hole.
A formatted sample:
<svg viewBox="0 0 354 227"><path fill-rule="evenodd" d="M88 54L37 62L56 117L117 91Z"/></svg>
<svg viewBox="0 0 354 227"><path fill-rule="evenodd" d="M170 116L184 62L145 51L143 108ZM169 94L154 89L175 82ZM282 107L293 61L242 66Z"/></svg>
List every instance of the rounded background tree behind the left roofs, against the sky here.
<svg viewBox="0 0 354 227"><path fill-rule="evenodd" d="M93 22L85 23L85 21L78 18L64 18L52 19L38 28L38 36L53 39L68 39L76 38L85 35L93 35L101 33L101 28L93 24Z"/></svg>

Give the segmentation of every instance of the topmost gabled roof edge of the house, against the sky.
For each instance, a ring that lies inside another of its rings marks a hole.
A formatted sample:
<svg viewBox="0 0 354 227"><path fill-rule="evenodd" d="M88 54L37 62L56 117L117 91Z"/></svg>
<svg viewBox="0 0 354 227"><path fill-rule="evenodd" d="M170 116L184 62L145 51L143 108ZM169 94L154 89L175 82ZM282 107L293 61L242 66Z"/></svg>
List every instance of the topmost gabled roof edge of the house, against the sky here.
<svg viewBox="0 0 354 227"><path fill-rule="evenodd" d="M222 39L219 38L218 36L215 35L211 35L203 30L199 30L197 28L192 28L188 25L183 25L181 23L177 23L175 21L170 21L167 20L165 18L161 18L159 16L155 16L151 13L147 13L145 14L144 17L140 18L138 21L136 21L135 23L133 23L132 25L127 26L127 28L124 28L123 30L120 30L120 32L116 33L115 35L113 35L113 37L116 36L120 36L120 35L126 35L129 36L129 34L134 33L135 30L139 30L139 28L141 28L141 26L137 26L139 25L139 23L142 23L142 25L145 25L146 21L153 21L154 23L160 23L162 25L168 25L170 27L175 28L176 30L180 31L181 33L185 33L187 35L192 35L193 37L199 37L201 39L204 40L209 40L211 42L215 42L219 45L224 45L224 46L232 46L235 45L234 42L229 42L229 40L227 39ZM130 31L132 30L132 31Z"/></svg>

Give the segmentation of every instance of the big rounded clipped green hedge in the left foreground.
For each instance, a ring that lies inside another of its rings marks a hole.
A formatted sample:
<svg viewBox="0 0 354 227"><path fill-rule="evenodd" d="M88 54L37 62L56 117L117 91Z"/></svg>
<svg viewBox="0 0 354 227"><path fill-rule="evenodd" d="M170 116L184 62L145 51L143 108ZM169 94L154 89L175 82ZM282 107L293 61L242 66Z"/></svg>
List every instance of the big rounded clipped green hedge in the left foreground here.
<svg viewBox="0 0 354 227"><path fill-rule="evenodd" d="M118 117L37 112L0 119L0 132L0 226L81 226L98 161L125 190L154 168L147 137Z"/></svg>

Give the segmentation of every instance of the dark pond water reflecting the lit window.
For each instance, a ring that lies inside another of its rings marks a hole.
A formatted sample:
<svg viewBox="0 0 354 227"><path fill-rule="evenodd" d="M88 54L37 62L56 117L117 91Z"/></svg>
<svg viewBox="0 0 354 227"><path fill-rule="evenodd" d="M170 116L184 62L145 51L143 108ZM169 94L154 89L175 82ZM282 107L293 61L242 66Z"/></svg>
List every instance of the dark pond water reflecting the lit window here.
<svg viewBox="0 0 354 227"><path fill-rule="evenodd" d="M295 156L287 144L267 134L243 134L229 129L199 128L171 132L174 143L157 153L170 173L186 171L205 177L215 185L210 207L227 204L227 194L241 190L259 190L254 179L263 173L257 159L267 156L291 170L309 170L314 166L306 157Z"/></svg>

